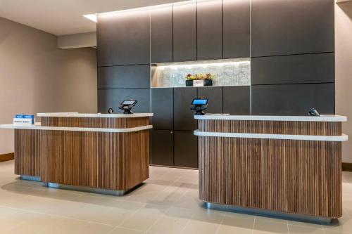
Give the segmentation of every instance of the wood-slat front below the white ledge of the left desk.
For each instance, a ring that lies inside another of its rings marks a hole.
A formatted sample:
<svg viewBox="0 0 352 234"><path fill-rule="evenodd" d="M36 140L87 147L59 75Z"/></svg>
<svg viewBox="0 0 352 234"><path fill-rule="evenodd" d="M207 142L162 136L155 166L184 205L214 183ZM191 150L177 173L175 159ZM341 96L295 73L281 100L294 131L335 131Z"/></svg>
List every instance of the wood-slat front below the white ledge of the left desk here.
<svg viewBox="0 0 352 234"><path fill-rule="evenodd" d="M149 178L149 142L149 130L15 129L15 174L40 176L44 182L128 190Z"/></svg>

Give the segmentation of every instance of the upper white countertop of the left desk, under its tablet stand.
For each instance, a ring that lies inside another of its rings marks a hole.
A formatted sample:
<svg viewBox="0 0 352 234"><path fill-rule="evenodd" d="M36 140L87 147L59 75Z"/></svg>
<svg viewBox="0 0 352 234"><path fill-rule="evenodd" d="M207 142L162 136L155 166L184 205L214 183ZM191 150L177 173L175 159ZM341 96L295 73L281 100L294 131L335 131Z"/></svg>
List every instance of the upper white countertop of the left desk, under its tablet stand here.
<svg viewBox="0 0 352 234"><path fill-rule="evenodd" d="M124 114L84 114L77 112L58 112L58 113L38 113L37 117L87 117L87 118L137 118L151 117L153 113L133 113L130 115Z"/></svg>

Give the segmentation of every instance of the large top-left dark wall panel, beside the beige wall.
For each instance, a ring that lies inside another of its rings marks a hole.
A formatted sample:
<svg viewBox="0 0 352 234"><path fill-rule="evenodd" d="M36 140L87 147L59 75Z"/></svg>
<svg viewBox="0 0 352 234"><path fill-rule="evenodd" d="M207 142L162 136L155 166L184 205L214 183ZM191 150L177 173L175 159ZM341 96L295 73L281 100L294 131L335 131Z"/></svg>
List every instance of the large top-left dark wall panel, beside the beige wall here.
<svg viewBox="0 0 352 234"><path fill-rule="evenodd" d="M150 63L148 10L98 16L98 66Z"/></svg>

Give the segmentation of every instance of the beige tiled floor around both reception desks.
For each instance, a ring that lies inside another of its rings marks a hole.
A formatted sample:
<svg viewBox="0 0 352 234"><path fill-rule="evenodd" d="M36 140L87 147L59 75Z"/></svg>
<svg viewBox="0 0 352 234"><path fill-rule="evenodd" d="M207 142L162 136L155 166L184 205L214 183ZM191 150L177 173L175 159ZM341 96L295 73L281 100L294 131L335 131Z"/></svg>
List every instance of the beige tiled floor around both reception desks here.
<svg viewBox="0 0 352 234"><path fill-rule="evenodd" d="M124 197L46 188L20 181L0 163L0 233L352 233L352 173L343 174L344 216L332 226L220 212L198 199L198 171L151 167Z"/></svg>

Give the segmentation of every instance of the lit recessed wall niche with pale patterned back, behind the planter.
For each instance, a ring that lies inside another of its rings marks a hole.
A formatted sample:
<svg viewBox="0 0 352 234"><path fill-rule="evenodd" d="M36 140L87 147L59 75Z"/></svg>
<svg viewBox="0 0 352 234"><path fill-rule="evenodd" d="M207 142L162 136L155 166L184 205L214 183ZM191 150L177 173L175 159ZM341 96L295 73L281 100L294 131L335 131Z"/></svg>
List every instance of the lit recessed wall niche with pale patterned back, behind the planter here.
<svg viewBox="0 0 352 234"><path fill-rule="evenodd" d="M151 67L152 88L186 86L187 74L213 74L213 86L250 86L250 58L158 63Z"/></svg>

